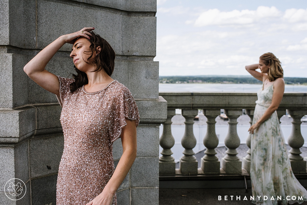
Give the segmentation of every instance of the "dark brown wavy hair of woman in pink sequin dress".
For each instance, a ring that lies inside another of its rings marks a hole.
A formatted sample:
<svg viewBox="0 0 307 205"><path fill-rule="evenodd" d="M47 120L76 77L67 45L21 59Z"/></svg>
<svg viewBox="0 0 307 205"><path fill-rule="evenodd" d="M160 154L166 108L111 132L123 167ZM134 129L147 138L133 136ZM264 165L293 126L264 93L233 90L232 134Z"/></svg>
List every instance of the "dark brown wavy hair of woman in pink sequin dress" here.
<svg viewBox="0 0 307 205"><path fill-rule="evenodd" d="M91 31L90 33L92 34L91 39L87 39L91 42L90 51L85 51L90 55L87 58L87 63L97 66L97 68L91 72L99 72L103 69L109 76L111 76L114 71L115 52L111 45L105 39L100 37L98 34L95 34L93 31ZM97 50L98 46L101 47L99 53ZM93 53L95 51L98 54L93 60L90 61L90 58L93 56ZM75 82L69 85L70 92L72 93L75 92L78 88L88 83L87 74L77 69L75 65L74 68L77 72L77 75L72 74L73 78L75 79Z"/></svg>

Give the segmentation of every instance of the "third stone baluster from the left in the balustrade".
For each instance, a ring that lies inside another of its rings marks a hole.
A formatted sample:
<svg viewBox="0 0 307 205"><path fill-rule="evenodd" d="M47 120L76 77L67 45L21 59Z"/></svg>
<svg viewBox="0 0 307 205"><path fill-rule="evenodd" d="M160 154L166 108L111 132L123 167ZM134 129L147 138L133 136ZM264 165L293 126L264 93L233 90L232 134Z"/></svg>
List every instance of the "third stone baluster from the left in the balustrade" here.
<svg viewBox="0 0 307 205"><path fill-rule="evenodd" d="M201 168L205 175L219 175L220 161L217 158L215 148L219 144L219 139L215 132L215 118L220 115L220 110L205 110L204 115L207 117L207 133L204 137L204 145L207 148L205 155L201 158Z"/></svg>

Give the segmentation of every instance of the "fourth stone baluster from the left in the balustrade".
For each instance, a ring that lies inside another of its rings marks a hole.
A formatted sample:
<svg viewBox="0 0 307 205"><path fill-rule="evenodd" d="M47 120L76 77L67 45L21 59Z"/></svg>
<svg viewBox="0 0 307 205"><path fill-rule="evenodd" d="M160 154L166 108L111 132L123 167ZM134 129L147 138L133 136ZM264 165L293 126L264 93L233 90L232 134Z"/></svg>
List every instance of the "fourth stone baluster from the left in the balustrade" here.
<svg viewBox="0 0 307 205"><path fill-rule="evenodd" d="M236 148L240 146L240 138L237 133L237 118L242 115L242 109L225 110L225 114L229 118L229 128L224 141L227 147L227 151L225 152L227 155L222 158L222 169L226 174L241 174L242 162L237 156L238 152Z"/></svg>

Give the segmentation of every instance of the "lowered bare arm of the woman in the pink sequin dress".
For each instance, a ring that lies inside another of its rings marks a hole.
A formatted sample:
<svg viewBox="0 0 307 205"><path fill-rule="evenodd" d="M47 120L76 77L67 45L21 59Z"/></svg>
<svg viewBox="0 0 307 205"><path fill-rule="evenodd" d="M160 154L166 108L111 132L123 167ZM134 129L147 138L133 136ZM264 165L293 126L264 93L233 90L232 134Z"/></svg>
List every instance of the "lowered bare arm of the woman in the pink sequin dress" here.
<svg viewBox="0 0 307 205"><path fill-rule="evenodd" d="M103 191L95 199L87 203L87 205L110 205L115 192L125 179L135 160L137 150L135 120L126 119L126 123L127 125L122 128L123 152L119 163Z"/></svg>

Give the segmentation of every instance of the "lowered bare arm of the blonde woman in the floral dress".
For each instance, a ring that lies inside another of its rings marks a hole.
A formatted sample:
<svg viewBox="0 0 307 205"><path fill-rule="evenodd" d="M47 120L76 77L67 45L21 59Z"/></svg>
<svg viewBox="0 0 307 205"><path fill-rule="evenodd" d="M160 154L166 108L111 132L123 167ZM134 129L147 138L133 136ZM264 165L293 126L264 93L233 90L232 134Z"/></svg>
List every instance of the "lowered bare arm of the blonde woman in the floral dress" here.
<svg viewBox="0 0 307 205"><path fill-rule="evenodd" d="M283 97L284 91L285 91L285 81L284 81L284 79L282 79L282 78L276 79L273 86L274 86L274 91L273 91L272 103L266 109L266 112L264 112L264 114L261 116L261 118L249 128L248 131L252 134L254 134L255 128L258 128L260 126L260 124L262 124L265 120L270 118L270 116L273 114L273 112L275 112L275 110L277 110L280 102L282 101L282 97Z"/></svg>

